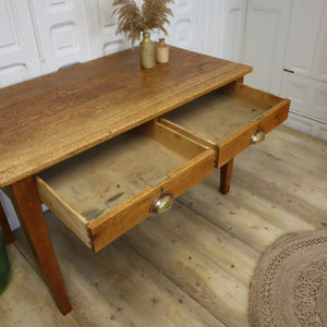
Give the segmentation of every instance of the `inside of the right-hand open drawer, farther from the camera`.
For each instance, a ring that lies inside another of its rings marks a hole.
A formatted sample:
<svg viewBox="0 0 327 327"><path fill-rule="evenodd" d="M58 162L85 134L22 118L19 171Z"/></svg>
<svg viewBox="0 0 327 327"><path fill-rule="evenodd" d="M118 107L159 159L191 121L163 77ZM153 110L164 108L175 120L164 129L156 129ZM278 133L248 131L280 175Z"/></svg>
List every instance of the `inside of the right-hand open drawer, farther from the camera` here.
<svg viewBox="0 0 327 327"><path fill-rule="evenodd" d="M249 122L259 120L282 100L234 82L167 113L162 122L167 120L217 144Z"/></svg>

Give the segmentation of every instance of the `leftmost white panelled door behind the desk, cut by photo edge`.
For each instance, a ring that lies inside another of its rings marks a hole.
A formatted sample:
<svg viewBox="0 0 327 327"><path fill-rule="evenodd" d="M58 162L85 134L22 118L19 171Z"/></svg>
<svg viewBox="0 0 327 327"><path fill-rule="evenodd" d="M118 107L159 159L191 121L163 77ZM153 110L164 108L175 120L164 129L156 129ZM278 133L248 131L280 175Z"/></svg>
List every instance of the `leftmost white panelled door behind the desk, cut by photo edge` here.
<svg viewBox="0 0 327 327"><path fill-rule="evenodd" d="M0 87L40 75L28 2L0 0Z"/></svg>

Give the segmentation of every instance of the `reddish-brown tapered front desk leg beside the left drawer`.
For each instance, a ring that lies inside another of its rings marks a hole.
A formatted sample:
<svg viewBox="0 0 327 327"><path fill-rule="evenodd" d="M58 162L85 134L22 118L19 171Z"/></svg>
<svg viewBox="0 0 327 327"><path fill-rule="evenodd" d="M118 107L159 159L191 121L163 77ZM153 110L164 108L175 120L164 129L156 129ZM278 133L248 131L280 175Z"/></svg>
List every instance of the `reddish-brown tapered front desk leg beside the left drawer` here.
<svg viewBox="0 0 327 327"><path fill-rule="evenodd" d="M69 302L56 254L48 234L41 203L34 183L28 177L12 184L12 192L20 209L21 225L25 231L29 245L44 274L60 312L65 315L72 307Z"/></svg>

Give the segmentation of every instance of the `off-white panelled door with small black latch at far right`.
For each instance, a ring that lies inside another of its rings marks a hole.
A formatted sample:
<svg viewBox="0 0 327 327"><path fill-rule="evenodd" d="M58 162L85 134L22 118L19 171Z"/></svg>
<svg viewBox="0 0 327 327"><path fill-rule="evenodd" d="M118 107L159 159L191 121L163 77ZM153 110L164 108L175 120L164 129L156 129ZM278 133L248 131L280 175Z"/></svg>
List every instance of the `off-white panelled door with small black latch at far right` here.
<svg viewBox="0 0 327 327"><path fill-rule="evenodd" d="M327 141L327 0L296 0L282 73L287 125Z"/></svg>

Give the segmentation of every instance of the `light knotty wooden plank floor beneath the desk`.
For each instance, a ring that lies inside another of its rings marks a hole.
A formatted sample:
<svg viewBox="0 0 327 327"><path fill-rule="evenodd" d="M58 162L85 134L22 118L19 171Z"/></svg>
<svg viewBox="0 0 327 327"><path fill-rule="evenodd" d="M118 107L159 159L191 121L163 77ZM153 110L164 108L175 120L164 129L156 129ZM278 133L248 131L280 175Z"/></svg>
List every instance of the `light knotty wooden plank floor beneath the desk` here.
<svg viewBox="0 0 327 327"><path fill-rule="evenodd" d="M247 326L251 278L289 231L327 226L327 143L284 126L237 157L231 192L219 171L98 254L46 214L73 311L62 316L21 230L9 246L7 326Z"/></svg>

